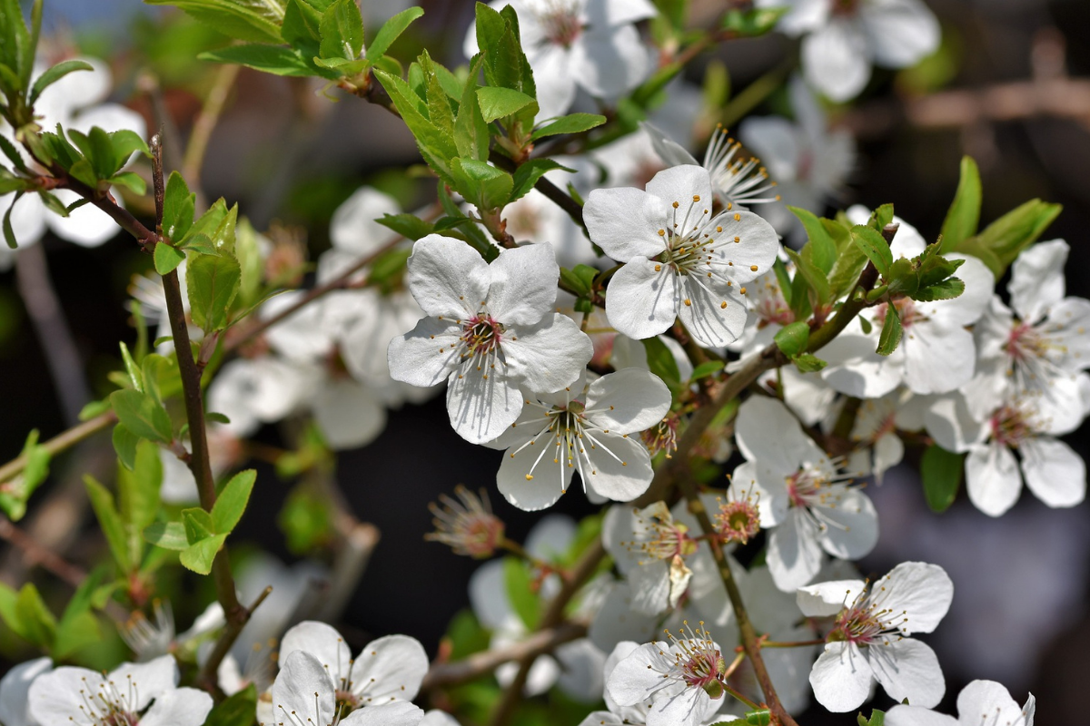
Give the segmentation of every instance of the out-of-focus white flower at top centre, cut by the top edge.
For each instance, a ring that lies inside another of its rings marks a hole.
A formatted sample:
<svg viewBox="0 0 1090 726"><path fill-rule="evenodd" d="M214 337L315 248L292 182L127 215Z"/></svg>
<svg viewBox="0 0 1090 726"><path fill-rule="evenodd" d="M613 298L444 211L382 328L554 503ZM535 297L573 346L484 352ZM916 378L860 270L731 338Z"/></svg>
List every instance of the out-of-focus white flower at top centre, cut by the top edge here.
<svg viewBox="0 0 1090 726"><path fill-rule="evenodd" d="M634 25L657 14L647 0L494 0L488 5L510 5L519 16L541 119L567 111L577 86L613 99L651 72L651 56ZM473 26L463 51L467 58L477 52Z"/></svg>

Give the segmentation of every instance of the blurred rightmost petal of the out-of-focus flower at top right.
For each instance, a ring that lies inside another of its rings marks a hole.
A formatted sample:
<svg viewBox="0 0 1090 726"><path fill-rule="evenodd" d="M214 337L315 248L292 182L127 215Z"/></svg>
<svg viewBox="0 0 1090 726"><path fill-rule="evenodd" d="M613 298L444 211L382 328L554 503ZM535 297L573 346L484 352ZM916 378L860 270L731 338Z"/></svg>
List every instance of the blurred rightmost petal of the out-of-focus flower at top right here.
<svg viewBox="0 0 1090 726"><path fill-rule="evenodd" d="M919 0L863 4L859 19L879 65L907 67L938 49L938 21Z"/></svg>

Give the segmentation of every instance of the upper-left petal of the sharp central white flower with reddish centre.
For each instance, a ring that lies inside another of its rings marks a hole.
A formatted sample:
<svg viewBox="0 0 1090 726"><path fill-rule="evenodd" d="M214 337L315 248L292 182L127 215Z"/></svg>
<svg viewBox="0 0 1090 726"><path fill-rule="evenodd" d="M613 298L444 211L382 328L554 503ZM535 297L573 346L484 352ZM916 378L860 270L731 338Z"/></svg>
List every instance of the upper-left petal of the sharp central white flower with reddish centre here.
<svg viewBox="0 0 1090 726"><path fill-rule="evenodd" d="M470 317L488 294L488 263L460 239L438 234L422 237L413 245L408 266L409 290L429 316Z"/></svg>

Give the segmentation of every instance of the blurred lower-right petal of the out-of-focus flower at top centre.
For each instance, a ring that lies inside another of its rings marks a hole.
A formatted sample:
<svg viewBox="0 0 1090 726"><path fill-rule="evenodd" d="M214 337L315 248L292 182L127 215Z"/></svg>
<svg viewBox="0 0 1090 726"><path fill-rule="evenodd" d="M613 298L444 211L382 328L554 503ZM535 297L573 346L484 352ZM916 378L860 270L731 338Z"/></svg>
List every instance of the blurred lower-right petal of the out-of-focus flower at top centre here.
<svg viewBox="0 0 1090 726"><path fill-rule="evenodd" d="M652 69L649 49L633 25L592 25L572 44L571 64L579 69L580 86L607 99L640 85Z"/></svg>

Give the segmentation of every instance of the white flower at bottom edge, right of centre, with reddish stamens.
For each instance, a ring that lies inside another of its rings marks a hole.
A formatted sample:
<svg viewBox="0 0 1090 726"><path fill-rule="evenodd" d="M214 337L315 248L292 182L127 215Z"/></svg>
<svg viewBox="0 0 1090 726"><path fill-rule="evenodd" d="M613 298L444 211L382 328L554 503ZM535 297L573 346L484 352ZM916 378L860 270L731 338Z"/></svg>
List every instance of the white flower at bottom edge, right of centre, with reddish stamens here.
<svg viewBox="0 0 1090 726"><path fill-rule="evenodd" d="M699 726L723 705L726 661L701 623L688 620L670 642L644 643L609 674L606 689L618 706L651 701L647 726Z"/></svg>

